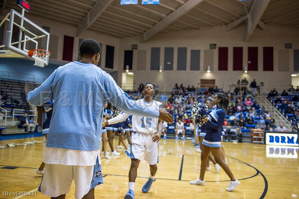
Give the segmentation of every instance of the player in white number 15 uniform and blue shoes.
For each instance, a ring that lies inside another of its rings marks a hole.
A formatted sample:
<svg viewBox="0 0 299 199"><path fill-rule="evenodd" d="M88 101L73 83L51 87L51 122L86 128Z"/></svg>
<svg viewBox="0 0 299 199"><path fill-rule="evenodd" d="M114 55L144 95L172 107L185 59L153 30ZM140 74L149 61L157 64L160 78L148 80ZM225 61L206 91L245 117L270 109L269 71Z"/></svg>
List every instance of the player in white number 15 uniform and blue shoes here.
<svg viewBox="0 0 299 199"><path fill-rule="evenodd" d="M152 96L155 92L154 86L151 83L147 83L144 86L144 98L136 101L141 106L150 106L158 110L161 108L161 102L154 101ZM107 124L115 124L119 121L124 121L130 114L123 113L113 119L103 123L103 126ZM150 177L144 184L142 191L148 192L152 183L155 181L155 174L157 172L158 163L158 141L162 133L163 121L156 118L132 116L132 128L133 133L131 135L130 152L127 155L131 158L131 168L129 171L129 191L125 195L125 199L134 199L135 179L137 177L137 168L139 162L142 161L144 154L144 160L149 163Z"/></svg>

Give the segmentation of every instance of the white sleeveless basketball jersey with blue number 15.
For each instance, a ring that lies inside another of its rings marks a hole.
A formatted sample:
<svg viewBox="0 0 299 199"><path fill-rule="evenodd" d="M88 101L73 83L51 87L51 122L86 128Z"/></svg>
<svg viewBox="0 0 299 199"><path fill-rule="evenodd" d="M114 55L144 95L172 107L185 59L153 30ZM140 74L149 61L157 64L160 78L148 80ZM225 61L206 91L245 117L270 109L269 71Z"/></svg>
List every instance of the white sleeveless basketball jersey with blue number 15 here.
<svg viewBox="0 0 299 199"><path fill-rule="evenodd" d="M147 103L144 99L139 99L136 103L140 103L141 105L149 106L158 110L162 103L158 101L152 101ZM158 118L148 118L148 117L140 117L140 116L132 116L132 128L133 131L139 133L156 133L158 132Z"/></svg>

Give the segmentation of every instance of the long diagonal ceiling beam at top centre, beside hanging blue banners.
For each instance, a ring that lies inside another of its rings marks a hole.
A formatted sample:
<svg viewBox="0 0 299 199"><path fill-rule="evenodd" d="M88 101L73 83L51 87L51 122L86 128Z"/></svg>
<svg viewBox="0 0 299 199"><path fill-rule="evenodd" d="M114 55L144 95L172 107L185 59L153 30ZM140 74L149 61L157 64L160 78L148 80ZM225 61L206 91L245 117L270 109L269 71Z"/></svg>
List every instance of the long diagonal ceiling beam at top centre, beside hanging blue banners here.
<svg viewBox="0 0 299 199"><path fill-rule="evenodd" d="M164 19L162 19L159 23L154 25L152 28L150 28L148 31L146 31L144 34L140 36L140 42L144 42L148 40L150 37L154 36L161 30L163 30L168 25L175 22L177 19L179 19L181 16L189 12L193 7L198 5L199 3L203 2L204 0L189 0L185 4L181 5L178 9L170 13L168 16L166 16Z"/></svg>

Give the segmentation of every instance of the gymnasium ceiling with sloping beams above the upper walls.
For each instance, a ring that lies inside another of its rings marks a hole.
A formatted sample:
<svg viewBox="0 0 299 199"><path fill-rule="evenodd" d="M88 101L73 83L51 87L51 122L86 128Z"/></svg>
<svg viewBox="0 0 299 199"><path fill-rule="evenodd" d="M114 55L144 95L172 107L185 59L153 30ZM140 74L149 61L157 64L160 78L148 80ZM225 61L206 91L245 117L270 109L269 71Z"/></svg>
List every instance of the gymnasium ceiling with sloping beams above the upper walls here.
<svg viewBox="0 0 299 199"><path fill-rule="evenodd" d="M10 8L20 11L15 0L1 1L1 15ZM51 21L119 38L140 36L143 42L158 32L196 30L227 26L227 31L241 23L246 26L244 40L255 28L267 25L299 27L298 0L160 0L159 5L120 5L120 0L28 0L30 13ZM251 16L248 20L248 15Z"/></svg>

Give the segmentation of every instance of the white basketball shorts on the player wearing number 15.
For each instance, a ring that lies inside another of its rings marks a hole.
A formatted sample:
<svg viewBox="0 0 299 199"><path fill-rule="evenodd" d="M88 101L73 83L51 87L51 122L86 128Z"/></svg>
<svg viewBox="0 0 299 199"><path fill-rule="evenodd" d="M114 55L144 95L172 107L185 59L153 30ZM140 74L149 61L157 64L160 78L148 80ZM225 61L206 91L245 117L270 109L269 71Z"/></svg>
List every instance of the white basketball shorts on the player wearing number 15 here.
<svg viewBox="0 0 299 199"><path fill-rule="evenodd" d="M127 155L130 158L144 160L150 165L155 165L159 162L158 143L152 141L152 134L141 134L133 132L131 135L130 153Z"/></svg>

